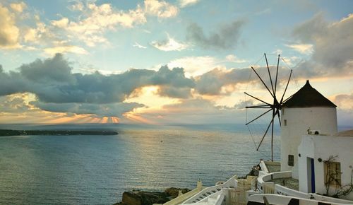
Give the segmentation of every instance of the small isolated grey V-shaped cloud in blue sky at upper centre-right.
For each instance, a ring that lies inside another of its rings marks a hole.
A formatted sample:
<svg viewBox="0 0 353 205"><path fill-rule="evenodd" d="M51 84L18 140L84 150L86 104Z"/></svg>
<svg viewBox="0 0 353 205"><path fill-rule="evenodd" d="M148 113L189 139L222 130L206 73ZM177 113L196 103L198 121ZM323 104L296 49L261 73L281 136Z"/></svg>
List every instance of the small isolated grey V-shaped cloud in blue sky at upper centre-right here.
<svg viewBox="0 0 353 205"><path fill-rule="evenodd" d="M244 21L233 21L227 25L222 25L216 32L205 35L203 28L196 23L192 23L187 28L186 37L199 45L208 49L234 49L237 45L241 27Z"/></svg>

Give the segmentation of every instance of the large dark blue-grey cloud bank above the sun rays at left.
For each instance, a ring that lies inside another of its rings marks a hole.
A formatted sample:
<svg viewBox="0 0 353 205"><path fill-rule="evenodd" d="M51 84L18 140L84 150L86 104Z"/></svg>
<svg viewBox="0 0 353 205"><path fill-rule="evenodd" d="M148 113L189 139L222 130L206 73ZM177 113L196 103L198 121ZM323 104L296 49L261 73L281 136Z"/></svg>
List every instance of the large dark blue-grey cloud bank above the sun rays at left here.
<svg viewBox="0 0 353 205"><path fill-rule="evenodd" d="M167 66L158 71L130 69L108 76L99 72L73 74L70 63L61 54L23 64L18 70L5 73L0 69L0 96L33 93L36 98L30 105L50 112L121 115L143 106L124 102L138 88L158 86L158 95L188 98L195 86L192 79L184 76L184 69Z"/></svg>

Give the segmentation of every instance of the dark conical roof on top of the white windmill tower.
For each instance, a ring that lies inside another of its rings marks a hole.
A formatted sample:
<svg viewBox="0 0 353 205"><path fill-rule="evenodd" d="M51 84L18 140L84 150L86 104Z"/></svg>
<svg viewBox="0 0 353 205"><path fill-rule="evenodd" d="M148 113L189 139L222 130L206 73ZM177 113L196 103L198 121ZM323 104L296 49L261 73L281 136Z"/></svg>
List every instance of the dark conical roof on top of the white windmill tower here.
<svg viewBox="0 0 353 205"><path fill-rule="evenodd" d="M309 80L303 88L294 93L282 107L337 107L333 102L325 98L318 90L311 87Z"/></svg>

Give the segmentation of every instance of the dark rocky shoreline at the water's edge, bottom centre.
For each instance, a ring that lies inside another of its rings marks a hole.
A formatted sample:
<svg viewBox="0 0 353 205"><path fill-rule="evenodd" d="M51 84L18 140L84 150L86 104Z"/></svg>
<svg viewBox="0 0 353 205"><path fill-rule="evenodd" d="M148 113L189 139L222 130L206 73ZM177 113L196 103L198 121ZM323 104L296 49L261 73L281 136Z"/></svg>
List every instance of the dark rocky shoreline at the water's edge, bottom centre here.
<svg viewBox="0 0 353 205"><path fill-rule="evenodd" d="M131 192L124 192L121 202L114 205L152 205L164 204L171 199L178 197L179 190L185 194L190 189L180 189L170 187L165 189L164 192L145 192L140 190L133 190Z"/></svg>

